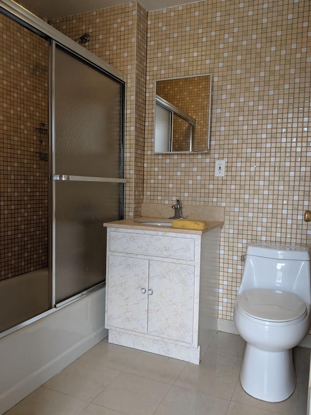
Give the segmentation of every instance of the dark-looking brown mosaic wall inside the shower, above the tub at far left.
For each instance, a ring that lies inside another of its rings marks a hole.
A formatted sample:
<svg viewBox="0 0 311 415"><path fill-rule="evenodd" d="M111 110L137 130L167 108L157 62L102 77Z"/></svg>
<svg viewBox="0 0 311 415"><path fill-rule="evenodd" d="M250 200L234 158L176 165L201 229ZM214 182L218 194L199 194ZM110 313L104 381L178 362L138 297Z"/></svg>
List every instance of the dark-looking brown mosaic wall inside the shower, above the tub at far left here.
<svg viewBox="0 0 311 415"><path fill-rule="evenodd" d="M0 279L47 266L48 48L0 15ZM42 140L42 143L40 142Z"/></svg>

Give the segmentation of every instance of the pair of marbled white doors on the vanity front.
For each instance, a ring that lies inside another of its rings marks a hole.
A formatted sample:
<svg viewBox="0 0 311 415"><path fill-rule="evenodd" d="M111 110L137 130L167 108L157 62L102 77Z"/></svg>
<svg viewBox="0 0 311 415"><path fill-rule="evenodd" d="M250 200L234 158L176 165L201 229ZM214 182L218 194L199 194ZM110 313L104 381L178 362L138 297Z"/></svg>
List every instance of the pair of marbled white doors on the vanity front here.
<svg viewBox="0 0 311 415"><path fill-rule="evenodd" d="M110 254L108 278L107 327L192 343L193 265Z"/></svg>

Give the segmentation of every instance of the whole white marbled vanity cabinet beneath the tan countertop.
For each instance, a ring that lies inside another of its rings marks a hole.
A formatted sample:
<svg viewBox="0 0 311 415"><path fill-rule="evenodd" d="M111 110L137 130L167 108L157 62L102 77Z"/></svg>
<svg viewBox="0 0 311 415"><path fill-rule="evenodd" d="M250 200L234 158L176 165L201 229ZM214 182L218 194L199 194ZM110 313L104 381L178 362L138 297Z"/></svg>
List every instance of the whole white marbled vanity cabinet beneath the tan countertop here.
<svg viewBox="0 0 311 415"><path fill-rule="evenodd" d="M217 331L220 227L107 228L109 342L199 363Z"/></svg>

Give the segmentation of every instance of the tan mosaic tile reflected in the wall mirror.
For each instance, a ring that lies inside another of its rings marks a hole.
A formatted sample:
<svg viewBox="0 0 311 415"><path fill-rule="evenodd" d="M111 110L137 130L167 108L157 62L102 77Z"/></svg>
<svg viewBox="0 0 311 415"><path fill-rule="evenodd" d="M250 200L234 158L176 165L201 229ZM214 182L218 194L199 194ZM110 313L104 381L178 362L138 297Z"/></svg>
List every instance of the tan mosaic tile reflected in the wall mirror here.
<svg viewBox="0 0 311 415"><path fill-rule="evenodd" d="M193 140L194 151L204 151L207 149L209 113L209 105L207 105L207 103L209 102L209 91L210 76L177 78L158 81L156 83L157 95L195 119L195 138ZM175 135L177 127L176 134L179 134L184 138L183 140L177 139L176 148L173 146L174 151L185 151L185 149L188 149L189 151L189 144L186 146L181 145L181 148L179 148L178 145L178 143L182 144L182 141L189 141L189 124L182 121L183 120L179 118L179 124L176 125L176 122L173 123L173 135ZM183 134L185 128L187 128L187 131L186 134Z"/></svg>

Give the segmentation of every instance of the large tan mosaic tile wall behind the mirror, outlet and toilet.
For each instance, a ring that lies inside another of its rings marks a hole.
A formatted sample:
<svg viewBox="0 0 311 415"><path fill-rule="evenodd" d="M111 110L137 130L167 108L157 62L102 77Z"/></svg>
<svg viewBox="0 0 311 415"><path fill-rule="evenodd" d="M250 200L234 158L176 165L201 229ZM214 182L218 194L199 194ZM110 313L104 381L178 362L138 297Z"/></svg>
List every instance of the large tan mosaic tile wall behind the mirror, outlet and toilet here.
<svg viewBox="0 0 311 415"><path fill-rule="evenodd" d="M148 14L144 201L225 207L220 318L232 319L249 243L311 242L310 12L303 0L215 0ZM207 73L210 153L155 155L155 80Z"/></svg>

